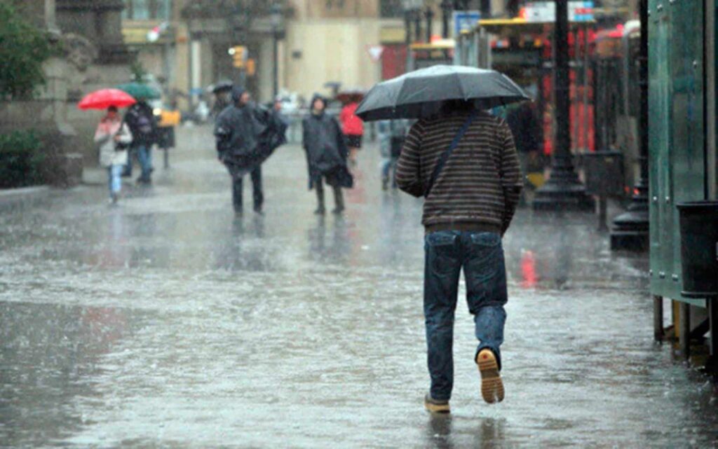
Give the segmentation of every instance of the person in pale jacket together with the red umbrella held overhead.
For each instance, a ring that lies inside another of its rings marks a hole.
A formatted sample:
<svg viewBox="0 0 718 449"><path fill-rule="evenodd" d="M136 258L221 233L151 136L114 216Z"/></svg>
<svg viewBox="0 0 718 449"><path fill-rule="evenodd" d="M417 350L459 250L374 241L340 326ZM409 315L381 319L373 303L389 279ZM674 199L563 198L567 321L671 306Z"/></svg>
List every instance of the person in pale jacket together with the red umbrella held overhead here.
<svg viewBox="0 0 718 449"><path fill-rule="evenodd" d="M122 189L121 174L127 164L127 148L132 143L129 127L118 114L118 107L133 105L136 100L116 89L103 89L90 93L78 107L80 109L105 109L107 114L100 120L95 131L95 143L100 147L100 165L108 172L110 201L116 204Z"/></svg>

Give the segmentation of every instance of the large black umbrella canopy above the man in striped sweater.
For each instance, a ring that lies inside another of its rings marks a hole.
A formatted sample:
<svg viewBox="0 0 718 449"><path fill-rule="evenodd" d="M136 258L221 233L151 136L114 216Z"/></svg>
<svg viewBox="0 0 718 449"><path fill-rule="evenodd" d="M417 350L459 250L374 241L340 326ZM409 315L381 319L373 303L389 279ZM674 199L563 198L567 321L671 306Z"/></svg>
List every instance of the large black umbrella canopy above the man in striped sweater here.
<svg viewBox="0 0 718 449"><path fill-rule="evenodd" d="M424 118L439 113L447 100L472 100L490 109L531 98L495 70L434 65L375 85L357 109L365 121Z"/></svg>

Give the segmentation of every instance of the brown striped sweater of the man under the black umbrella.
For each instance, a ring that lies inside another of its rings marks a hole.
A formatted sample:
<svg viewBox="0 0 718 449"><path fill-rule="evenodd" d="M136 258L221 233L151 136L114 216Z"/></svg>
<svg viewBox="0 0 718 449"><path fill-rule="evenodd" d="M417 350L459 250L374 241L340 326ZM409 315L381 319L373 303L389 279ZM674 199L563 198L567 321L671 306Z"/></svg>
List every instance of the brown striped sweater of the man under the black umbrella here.
<svg viewBox="0 0 718 449"><path fill-rule="evenodd" d="M414 123L399 156L396 182L423 197L440 156L468 118L468 112ZM516 211L523 179L511 131L489 113L474 118L424 201L421 223L437 229L505 232Z"/></svg>

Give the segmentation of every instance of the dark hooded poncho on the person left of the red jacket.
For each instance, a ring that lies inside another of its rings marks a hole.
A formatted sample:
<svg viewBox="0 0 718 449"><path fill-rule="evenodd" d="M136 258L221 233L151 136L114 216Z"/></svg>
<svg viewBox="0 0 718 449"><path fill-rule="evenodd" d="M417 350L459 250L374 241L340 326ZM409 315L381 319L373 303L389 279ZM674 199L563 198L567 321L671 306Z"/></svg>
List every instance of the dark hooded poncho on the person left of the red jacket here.
<svg viewBox="0 0 718 449"><path fill-rule="evenodd" d="M320 95L314 95L311 105L317 99L326 100ZM312 113L302 121L302 146L307 153L307 166L309 169L309 189L321 180L327 178L327 184L332 186L351 187L353 179L347 169L348 148L344 140L342 129L336 118L322 113Z"/></svg>

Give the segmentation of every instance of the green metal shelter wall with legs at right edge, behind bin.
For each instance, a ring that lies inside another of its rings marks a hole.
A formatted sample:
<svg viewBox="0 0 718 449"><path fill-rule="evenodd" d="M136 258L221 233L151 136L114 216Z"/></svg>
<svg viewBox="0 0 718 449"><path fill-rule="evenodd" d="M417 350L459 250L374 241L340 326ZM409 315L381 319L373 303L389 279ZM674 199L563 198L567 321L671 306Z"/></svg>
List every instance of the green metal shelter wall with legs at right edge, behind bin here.
<svg viewBox="0 0 718 449"><path fill-rule="evenodd" d="M688 358L707 330L718 361L718 299L686 298L676 204L718 199L716 1L648 0L651 294L654 331L663 339L663 298ZM697 319L696 319L697 318ZM700 322L691 326L691 321Z"/></svg>

